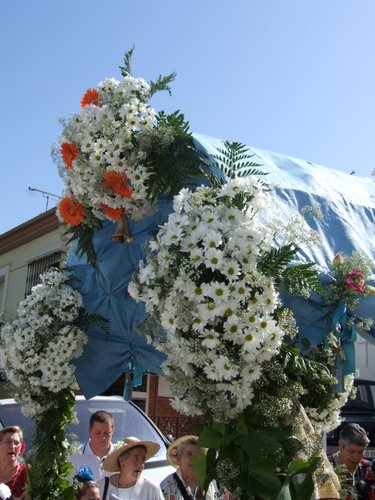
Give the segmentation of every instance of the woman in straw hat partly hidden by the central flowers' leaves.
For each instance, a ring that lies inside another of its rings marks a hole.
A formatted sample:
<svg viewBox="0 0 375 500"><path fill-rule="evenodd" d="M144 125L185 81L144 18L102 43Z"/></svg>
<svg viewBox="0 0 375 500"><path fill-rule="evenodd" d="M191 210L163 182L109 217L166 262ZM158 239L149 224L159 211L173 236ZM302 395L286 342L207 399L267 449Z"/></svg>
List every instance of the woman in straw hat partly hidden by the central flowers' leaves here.
<svg viewBox="0 0 375 500"><path fill-rule="evenodd" d="M167 450L168 462L176 467L176 472L167 476L160 488L166 500L214 500L217 492L214 483L208 487L206 496L200 490L195 471L192 466L193 456L204 453L197 445L198 436L182 436L174 441Z"/></svg>

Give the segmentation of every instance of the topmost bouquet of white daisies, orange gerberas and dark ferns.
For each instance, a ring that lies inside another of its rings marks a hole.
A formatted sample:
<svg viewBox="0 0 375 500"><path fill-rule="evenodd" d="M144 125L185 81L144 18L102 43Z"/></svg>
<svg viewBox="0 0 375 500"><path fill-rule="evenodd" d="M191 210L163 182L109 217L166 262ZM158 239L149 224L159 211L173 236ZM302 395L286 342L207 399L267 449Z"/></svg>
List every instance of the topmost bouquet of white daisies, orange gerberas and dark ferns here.
<svg viewBox="0 0 375 500"><path fill-rule="evenodd" d="M107 78L85 92L81 112L62 121L60 147L53 149L66 186L57 215L94 266L90 230L103 220L139 221L157 210L163 192L173 196L187 179L209 175L184 116L156 113L149 103L159 90L170 93L175 74L156 82L133 77L132 52L121 80Z"/></svg>

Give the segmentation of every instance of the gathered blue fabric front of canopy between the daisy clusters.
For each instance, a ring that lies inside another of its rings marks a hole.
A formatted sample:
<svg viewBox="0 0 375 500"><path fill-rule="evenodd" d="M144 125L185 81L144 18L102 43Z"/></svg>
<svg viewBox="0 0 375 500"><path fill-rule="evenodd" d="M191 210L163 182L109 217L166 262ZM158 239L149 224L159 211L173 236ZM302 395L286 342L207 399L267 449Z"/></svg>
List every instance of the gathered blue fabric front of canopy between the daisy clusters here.
<svg viewBox="0 0 375 500"><path fill-rule="evenodd" d="M139 261L145 257L147 241L168 219L171 210L171 202L163 197L153 217L137 224L129 221L132 243L114 243L111 236L116 224L104 222L103 229L94 236L98 272L87 263L85 256L77 254L76 243L72 245L67 267L78 278L72 286L83 294L87 313L100 314L109 320L108 335L98 326L88 328L88 343L76 361L77 381L86 398L105 391L126 371L129 363L138 371L161 373L164 355L136 333L136 326L146 314L143 304L136 303L127 289Z"/></svg>

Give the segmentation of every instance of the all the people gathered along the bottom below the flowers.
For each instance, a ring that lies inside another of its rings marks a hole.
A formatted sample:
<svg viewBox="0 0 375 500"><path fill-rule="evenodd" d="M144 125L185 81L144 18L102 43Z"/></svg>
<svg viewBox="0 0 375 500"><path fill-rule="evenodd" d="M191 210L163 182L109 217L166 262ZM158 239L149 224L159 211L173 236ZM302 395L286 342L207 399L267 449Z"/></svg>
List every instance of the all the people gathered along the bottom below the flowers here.
<svg viewBox="0 0 375 500"><path fill-rule="evenodd" d="M159 451L159 444L125 438L112 443L113 416L95 412L89 422L89 439L70 457L73 469L69 476L77 500L230 500L231 493L221 492L212 482L201 491L192 466L200 448L198 437L182 436L167 449L166 458L175 472L156 484L142 475L145 463ZM375 461L364 458L369 444L366 431L358 424L348 424L340 432L339 449L329 456L341 481L346 500L375 500ZM0 431L0 499L29 500L26 493L28 468L20 459L24 451L22 430L17 426ZM32 500L32 499L30 499Z"/></svg>

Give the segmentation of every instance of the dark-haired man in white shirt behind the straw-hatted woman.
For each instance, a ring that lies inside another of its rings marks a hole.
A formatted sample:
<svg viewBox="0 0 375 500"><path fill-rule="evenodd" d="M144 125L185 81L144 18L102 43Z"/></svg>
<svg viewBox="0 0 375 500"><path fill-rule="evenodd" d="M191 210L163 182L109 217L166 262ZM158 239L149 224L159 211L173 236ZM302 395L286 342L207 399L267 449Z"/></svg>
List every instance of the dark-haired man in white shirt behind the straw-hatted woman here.
<svg viewBox="0 0 375 500"><path fill-rule="evenodd" d="M113 451L111 442L114 430L113 415L107 411L98 410L90 417L89 440L79 448L79 453L70 456L69 461L73 470L68 480L71 482L81 467L89 467L94 475L94 481L99 481L105 475L102 462Z"/></svg>

